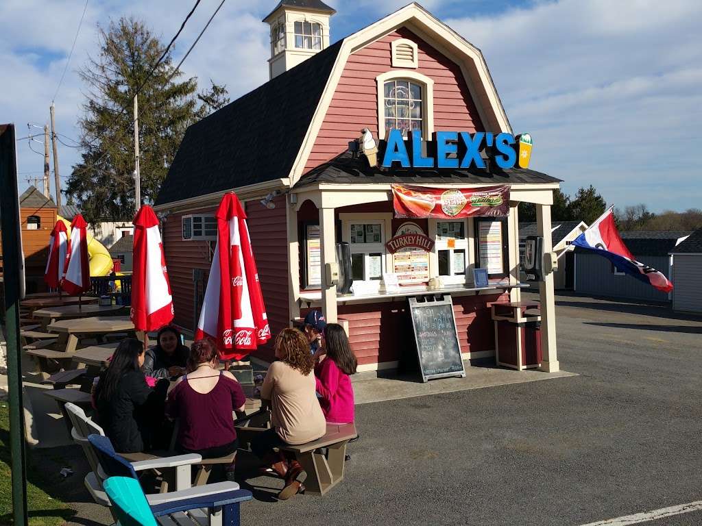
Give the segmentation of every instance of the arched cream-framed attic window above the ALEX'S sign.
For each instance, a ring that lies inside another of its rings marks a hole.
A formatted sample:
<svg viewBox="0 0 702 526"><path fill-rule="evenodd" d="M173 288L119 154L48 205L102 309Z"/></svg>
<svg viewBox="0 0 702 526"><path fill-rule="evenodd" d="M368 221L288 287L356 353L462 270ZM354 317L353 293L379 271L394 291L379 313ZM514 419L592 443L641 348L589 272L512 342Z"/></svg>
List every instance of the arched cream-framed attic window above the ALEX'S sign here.
<svg viewBox="0 0 702 526"><path fill-rule="evenodd" d="M434 81L413 71L392 71L376 77L378 88L378 137L388 130L419 131L423 138L434 132Z"/></svg>

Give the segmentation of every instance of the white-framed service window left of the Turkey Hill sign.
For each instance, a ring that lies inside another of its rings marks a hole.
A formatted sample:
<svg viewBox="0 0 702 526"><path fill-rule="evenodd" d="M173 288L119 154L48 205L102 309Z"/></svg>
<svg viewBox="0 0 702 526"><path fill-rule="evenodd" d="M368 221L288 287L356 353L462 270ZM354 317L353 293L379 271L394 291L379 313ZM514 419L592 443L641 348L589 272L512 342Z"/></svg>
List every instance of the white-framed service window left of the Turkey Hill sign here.
<svg viewBox="0 0 702 526"><path fill-rule="evenodd" d="M350 220L347 228L354 283L360 282L362 286L363 283L380 281L385 268L385 222Z"/></svg>

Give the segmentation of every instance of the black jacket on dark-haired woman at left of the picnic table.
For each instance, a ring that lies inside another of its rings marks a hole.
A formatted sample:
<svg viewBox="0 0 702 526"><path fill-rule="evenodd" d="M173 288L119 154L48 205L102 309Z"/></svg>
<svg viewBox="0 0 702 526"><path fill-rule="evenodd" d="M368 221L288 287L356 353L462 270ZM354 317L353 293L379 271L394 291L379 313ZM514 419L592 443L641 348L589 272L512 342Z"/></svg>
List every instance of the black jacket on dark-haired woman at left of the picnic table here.
<svg viewBox="0 0 702 526"><path fill-rule="evenodd" d="M145 447L143 432L148 422L163 420L164 400L168 381L161 380L151 389L141 371L127 372L119 379L117 389L109 400L96 400L98 422L105 435L119 453L142 452ZM152 414L152 409L161 407L161 414ZM140 425L140 423L142 425Z"/></svg>

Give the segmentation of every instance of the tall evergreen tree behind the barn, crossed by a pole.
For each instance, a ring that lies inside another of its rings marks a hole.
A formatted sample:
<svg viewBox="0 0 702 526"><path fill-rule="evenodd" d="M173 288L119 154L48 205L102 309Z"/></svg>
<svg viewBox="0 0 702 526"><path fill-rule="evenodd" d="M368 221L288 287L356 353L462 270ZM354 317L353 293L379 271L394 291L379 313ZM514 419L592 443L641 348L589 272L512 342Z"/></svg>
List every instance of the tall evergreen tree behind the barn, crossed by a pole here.
<svg viewBox="0 0 702 526"><path fill-rule="evenodd" d="M185 129L228 102L225 86L212 83L198 104L197 79L173 74L168 53L151 73L165 46L134 18L99 28L98 58L81 70L87 101L81 128L82 161L73 166L66 194L86 220L134 213L133 97L138 93L141 196L156 198ZM151 74L150 74L151 73ZM143 86L142 86L143 85Z"/></svg>

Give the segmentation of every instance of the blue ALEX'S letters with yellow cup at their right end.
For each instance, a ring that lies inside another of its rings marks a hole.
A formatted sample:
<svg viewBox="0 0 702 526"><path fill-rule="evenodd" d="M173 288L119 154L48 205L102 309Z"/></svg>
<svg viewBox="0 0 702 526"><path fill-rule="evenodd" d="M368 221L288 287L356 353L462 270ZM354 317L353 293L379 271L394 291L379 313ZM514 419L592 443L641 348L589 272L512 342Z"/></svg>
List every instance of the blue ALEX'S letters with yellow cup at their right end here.
<svg viewBox="0 0 702 526"><path fill-rule="evenodd" d="M529 168L531 135L511 133L439 131L432 141L423 141L419 133L392 129L388 139L380 142L383 168L485 168L481 152L494 159L500 168ZM394 166L393 166L394 165Z"/></svg>

